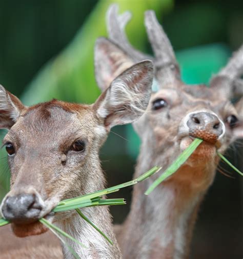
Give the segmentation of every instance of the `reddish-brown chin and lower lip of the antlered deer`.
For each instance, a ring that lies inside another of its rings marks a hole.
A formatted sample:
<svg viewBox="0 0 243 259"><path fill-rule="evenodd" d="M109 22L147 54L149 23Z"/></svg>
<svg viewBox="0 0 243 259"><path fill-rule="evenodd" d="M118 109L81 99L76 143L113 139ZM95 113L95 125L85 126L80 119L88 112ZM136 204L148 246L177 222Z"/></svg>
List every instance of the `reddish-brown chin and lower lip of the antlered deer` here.
<svg viewBox="0 0 243 259"><path fill-rule="evenodd" d="M184 151L194 141L194 139L195 138L192 136L182 138L180 141L180 150ZM217 150L216 146L216 144L211 144L206 141L202 142L192 153L190 160L201 161L214 159Z"/></svg>

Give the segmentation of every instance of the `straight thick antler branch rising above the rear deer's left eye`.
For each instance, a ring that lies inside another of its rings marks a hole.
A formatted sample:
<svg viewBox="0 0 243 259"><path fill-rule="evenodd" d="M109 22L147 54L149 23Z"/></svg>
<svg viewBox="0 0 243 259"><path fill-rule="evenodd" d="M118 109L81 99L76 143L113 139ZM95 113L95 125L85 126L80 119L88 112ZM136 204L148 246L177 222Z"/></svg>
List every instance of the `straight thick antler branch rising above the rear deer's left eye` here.
<svg viewBox="0 0 243 259"><path fill-rule="evenodd" d="M155 67L158 71L164 70L163 79L167 77L167 81L171 82L175 81L175 79L180 80L179 65L173 48L165 31L158 23L154 11L147 11L145 13L145 26L155 54Z"/></svg>

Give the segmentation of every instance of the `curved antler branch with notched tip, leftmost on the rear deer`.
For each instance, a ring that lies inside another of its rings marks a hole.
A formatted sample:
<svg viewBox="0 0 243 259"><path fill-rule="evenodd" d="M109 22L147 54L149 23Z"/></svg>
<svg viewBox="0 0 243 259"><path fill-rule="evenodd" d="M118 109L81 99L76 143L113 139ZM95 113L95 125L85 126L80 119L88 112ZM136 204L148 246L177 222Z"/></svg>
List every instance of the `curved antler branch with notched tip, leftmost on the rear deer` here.
<svg viewBox="0 0 243 259"><path fill-rule="evenodd" d="M128 42L124 28L130 19L130 12L127 11L121 15L118 15L118 5L111 5L107 11L106 16L109 38L120 48L122 48L133 59L134 62L139 62L144 59L152 59L150 56L135 50Z"/></svg>

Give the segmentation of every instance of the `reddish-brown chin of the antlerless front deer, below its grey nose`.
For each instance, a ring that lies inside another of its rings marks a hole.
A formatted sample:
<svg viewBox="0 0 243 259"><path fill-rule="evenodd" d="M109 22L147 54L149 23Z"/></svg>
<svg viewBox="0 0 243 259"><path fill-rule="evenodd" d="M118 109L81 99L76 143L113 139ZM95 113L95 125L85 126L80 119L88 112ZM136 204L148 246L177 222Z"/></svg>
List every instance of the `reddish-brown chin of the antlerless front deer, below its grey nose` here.
<svg viewBox="0 0 243 259"><path fill-rule="evenodd" d="M38 221L25 225L18 225L16 223L12 223L11 227L13 233L18 237L40 235L48 231L48 228Z"/></svg>

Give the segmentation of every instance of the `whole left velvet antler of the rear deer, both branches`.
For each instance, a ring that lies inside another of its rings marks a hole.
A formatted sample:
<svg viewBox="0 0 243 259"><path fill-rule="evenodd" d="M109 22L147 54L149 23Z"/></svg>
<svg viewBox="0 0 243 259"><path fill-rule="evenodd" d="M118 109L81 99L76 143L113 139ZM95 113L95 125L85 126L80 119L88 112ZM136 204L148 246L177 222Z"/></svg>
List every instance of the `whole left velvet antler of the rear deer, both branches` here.
<svg viewBox="0 0 243 259"><path fill-rule="evenodd" d="M175 54L170 41L163 28L159 25L155 13L147 11L145 13L145 26L149 36L149 41L155 53L155 58L135 50L128 42L124 28L131 18L130 12L122 15L117 14L118 5L111 5L107 12L107 27L110 39L122 48L134 62L143 59L154 61L156 77L159 79L159 86L173 84L180 81L179 66L176 62Z"/></svg>

